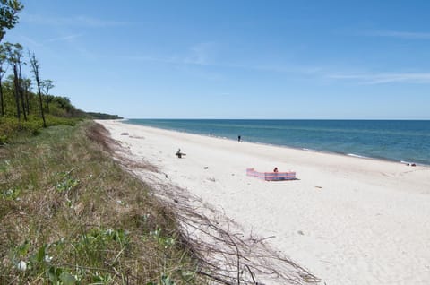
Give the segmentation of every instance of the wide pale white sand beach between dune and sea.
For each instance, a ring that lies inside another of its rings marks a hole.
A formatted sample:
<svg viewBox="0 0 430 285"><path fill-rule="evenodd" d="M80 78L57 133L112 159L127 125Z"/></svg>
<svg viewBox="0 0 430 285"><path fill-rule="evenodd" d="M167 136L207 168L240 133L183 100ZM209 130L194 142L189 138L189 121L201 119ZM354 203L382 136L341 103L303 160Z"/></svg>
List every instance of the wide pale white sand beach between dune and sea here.
<svg viewBox="0 0 430 285"><path fill-rule="evenodd" d="M430 168L99 123L136 160L246 230L275 236L271 246L322 284L430 284ZM246 177L250 167L291 169L299 180Z"/></svg>

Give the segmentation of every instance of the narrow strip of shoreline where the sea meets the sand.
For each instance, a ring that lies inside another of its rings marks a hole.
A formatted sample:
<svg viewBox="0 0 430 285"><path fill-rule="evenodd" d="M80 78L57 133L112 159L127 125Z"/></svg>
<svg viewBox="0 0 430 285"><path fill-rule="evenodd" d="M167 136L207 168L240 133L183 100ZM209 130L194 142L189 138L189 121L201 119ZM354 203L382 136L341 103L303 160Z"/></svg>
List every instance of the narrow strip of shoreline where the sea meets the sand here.
<svg viewBox="0 0 430 285"><path fill-rule="evenodd" d="M127 120L129 120L129 119L122 119L122 120L116 120L116 121L121 122L123 124L127 124L127 125L141 125L141 124L127 123ZM195 134L195 135L202 135L204 137L212 137L212 138L217 138L217 139L221 139L221 140L228 140L231 142L237 142L235 139L228 138L226 136L202 134L202 133L192 133L192 132L180 131L180 130L176 130L176 129L172 129L172 128L156 127L156 126L152 126L152 125L142 125L142 126L160 129L160 130L171 131L171 132L177 132L180 134ZM415 164L415 166L430 168L430 164L420 163L420 162L416 162L416 161L391 160L391 159L383 158L383 157L371 157L371 156L365 156L365 155L361 155L361 154L357 154L357 153L347 153L347 152L342 152L342 151L321 151L321 150L314 150L314 149L309 149L309 148L305 148L305 147L295 147L295 146L290 146L290 145L285 145L285 144L275 144L275 143L270 143L270 142L253 142L253 141L243 141L243 142L261 144L261 145L267 145L267 146L273 146L273 147L280 147L280 148L292 149L292 150L297 150L297 151L311 151L311 152L326 153L326 154L333 154L333 155L342 155L342 156L346 156L346 157L364 159L364 160L380 160L380 161L385 161L385 162L400 163L400 164L403 164L406 166L408 166L407 164Z"/></svg>

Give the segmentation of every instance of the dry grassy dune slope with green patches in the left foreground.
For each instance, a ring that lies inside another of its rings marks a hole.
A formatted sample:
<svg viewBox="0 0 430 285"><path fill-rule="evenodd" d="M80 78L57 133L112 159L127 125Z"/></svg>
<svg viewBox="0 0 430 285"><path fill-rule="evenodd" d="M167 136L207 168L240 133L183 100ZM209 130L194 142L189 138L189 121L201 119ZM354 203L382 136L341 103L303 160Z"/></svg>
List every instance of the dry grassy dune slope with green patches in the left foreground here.
<svg viewBox="0 0 430 285"><path fill-rule="evenodd" d="M1 284L202 284L174 216L104 132L56 125L0 147Z"/></svg>

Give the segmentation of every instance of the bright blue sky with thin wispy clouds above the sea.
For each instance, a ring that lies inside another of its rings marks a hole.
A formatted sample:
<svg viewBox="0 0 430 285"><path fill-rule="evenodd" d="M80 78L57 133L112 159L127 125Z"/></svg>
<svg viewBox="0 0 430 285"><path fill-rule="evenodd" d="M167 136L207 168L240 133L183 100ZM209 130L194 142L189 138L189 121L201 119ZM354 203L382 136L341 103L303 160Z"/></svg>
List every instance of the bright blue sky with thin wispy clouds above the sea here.
<svg viewBox="0 0 430 285"><path fill-rule="evenodd" d="M22 2L4 41L86 111L430 119L430 1Z"/></svg>

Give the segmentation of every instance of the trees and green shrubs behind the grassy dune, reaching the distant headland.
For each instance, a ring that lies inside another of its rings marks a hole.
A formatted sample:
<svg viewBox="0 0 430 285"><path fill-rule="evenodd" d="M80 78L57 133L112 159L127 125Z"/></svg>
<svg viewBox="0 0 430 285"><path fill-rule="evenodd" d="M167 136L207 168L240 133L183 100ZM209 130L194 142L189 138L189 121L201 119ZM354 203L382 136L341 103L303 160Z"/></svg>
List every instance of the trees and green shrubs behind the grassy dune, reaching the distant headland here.
<svg viewBox="0 0 430 285"><path fill-rule="evenodd" d="M119 118L107 114L87 114L74 108L70 99L49 94L55 85L42 79L40 64L34 53L28 59L19 43L2 43L6 30L19 22L23 5L18 0L0 0L0 145L17 135L38 134L49 125L74 125L82 118ZM29 65L34 82L22 74ZM5 78L6 71L10 74ZM31 91L35 87L36 92Z"/></svg>

